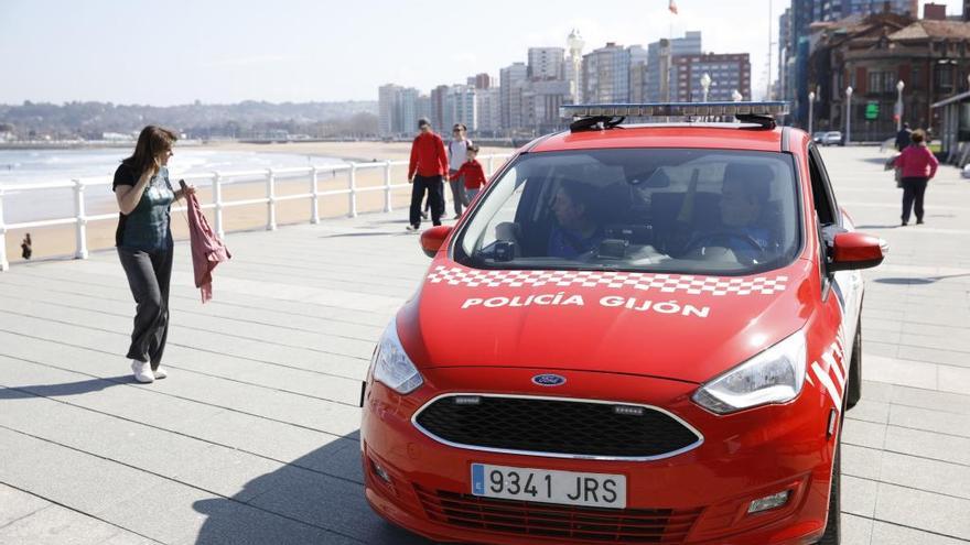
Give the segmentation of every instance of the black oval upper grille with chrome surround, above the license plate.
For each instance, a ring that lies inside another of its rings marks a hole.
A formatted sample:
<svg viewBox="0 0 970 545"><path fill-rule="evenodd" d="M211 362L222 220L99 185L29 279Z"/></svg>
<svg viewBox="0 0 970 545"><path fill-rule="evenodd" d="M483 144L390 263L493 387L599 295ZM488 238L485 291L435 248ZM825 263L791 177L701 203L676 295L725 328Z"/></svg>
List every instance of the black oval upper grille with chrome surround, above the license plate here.
<svg viewBox="0 0 970 545"><path fill-rule="evenodd" d="M559 397L448 395L414 422L446 444L540 456L655 459L701 442L656 408Z"/></svg>

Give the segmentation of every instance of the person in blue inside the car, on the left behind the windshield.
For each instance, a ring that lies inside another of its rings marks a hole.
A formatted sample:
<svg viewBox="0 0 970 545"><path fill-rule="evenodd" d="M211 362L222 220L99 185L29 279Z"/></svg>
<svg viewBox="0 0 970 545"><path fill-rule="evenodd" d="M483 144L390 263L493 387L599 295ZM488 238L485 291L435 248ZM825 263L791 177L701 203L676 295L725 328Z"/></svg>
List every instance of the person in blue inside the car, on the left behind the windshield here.
<svg viewBox="0 0 970 545"><path fill-rule="evenodd" d="M548 257L572 260L600 246L603 233L594 212L596 198L589 184L573 179L560 183L551 203L556 221L549 233Z"/></svg>

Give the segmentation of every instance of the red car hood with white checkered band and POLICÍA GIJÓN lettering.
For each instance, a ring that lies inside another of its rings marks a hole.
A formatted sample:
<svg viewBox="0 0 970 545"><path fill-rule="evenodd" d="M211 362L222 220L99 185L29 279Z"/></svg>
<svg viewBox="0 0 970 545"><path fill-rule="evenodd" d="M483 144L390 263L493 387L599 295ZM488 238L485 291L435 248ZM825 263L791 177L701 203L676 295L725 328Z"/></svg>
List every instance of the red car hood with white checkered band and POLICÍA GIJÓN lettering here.
<svg viewBox="0 0 970 545"><path fill-rule="evenodd" d="M809 262L756 276L481 271L435 260L401 309L419 369L582 370L704 382L798 330Z"/></svg>

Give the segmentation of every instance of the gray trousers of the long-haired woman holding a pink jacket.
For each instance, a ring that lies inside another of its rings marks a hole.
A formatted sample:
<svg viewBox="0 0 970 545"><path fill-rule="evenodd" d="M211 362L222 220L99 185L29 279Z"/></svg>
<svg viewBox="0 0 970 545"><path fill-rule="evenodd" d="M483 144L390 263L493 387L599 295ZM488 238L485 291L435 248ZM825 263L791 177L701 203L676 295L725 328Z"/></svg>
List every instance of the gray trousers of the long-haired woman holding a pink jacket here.
<svg viewBox="0 0 970 545"><path fill-rule="evenodd" d="M149 253L118 248L118 258L128 276L128 286L138 304L128 356L151 362L158 369L169 337L169 282L172 279L172 253L169 249Z"/></svg>

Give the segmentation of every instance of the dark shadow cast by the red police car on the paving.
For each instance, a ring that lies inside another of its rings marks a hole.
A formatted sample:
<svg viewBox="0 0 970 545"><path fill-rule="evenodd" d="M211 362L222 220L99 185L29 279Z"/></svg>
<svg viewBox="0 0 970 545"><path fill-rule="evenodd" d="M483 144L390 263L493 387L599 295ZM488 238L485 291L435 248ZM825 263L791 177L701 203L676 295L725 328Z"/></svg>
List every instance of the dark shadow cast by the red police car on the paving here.
<svg viewBox="0 0 970 545"><path fill-rule="evenodd" d="M233 498L193 504L206 515L196 545L433 545L371 511L364 498L357 433L247 482Z"/></svg>

